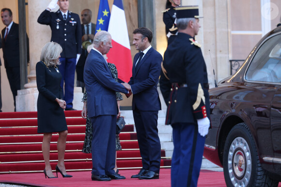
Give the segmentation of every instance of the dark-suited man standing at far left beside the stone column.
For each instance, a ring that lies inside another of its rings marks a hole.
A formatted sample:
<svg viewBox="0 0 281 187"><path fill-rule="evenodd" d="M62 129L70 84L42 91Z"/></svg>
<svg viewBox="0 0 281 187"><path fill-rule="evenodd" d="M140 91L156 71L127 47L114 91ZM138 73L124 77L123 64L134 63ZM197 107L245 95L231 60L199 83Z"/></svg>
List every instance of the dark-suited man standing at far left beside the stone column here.
<svg viewBox="0 0 281 187"><path fill-rule="evenodd" d="M20 90L20 65L19 65L19 30L18 24L13 22L13 13L9 8L1 10L1 19L6 26L2 29L2 49L4 65L14 97L16 111L17 90ZM27 38L27 61L29 61L29 40Z"/></svg>

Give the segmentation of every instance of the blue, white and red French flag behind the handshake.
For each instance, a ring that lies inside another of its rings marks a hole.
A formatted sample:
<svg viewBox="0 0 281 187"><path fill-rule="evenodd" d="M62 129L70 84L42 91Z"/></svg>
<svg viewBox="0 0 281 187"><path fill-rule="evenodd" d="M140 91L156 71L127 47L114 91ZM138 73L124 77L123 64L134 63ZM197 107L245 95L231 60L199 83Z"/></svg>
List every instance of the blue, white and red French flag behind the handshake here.
<svg viewBox="0 0 281 187"><path fill-rule="evenodd" d="M113 2L108 32L112 37L112 49L107 54L108 62L115 64L118 78L128 82L132 76L133 63L122 0Z"/></svg>

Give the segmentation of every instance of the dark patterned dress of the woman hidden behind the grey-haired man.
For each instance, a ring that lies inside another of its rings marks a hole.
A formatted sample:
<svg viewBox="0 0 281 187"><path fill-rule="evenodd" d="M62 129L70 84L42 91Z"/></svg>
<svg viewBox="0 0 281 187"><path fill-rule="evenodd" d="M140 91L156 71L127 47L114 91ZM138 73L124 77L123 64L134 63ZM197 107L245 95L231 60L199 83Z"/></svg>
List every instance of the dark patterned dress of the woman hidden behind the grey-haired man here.
<svg viewBox="0 0 281 187"><path fill-rule="evenodd" d="M108 63L109 69L114 76L114 79L116 82L118 82L118 72L116 69L116 66L114 64ZM116 92L116 100L117 101L122 101L123 96L119 93ZM82 102L87 102L87 91L84 93L84 97L82 99ZM85 140L83 144L83 153L92 153L92 139L93 139L93 126L91 124L90 118L87 116L86 120L86 132L85 132ZM120 139L119 139L119 134L116 134L116 151L122 150L121 144L120 144Z"/></svg>

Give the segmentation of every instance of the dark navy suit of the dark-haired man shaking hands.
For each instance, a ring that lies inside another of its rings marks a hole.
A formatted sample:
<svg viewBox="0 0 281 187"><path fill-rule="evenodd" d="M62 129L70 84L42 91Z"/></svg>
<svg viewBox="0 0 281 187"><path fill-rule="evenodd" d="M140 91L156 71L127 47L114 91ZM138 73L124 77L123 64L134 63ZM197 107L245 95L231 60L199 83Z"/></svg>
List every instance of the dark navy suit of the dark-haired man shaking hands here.
<svg viewBox="0 0 281 187"><path fill-rule="evenodd" d="M133 92L132 109L141 151L142 169L159 173L161 145L157 119L161 102L157 84L163 58L152 47L136 66L139 57L140 53L134 57L129 85Z"/></svg>

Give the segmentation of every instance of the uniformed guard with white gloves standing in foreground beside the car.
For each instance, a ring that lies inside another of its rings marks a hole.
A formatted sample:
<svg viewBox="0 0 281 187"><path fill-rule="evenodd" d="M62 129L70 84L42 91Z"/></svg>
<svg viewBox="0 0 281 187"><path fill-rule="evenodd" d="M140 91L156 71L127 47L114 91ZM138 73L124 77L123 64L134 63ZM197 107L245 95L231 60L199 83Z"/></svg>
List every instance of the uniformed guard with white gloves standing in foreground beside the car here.
<svg viewBox="0 0 281 187"><path fill-rule="evenodd" d="M173 128L172 187L196 187L210 126L206 65L200 44L198 6L176 8L178 35L164 54L160 89Z"/></svg>

